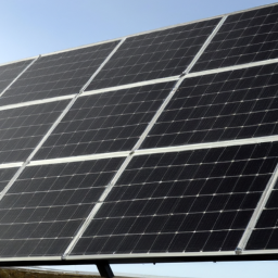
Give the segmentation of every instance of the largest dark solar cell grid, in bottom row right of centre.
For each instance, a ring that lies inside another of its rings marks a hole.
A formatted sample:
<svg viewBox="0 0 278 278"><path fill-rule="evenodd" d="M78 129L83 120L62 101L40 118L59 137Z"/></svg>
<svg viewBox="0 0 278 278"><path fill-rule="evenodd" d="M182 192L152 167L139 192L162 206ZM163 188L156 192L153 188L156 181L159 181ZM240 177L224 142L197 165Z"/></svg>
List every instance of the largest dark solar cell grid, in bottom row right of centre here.
<svg viewBox="0 0 278 278"><path fill-rule="evenodd" d="M278 143L135 156L73 255L233 251Z"/></svg>

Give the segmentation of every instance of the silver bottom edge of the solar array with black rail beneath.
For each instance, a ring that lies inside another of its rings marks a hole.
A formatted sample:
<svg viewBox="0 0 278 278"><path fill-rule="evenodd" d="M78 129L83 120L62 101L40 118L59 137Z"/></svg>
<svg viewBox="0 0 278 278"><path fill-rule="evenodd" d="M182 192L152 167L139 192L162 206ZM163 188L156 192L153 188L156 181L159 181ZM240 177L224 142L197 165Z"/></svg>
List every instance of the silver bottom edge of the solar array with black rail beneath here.
<svg viewBox="0 0 278 278"><path fill-rule="evenodd" d="M250 261L277 260L278 250L243 251L237 256L233 251L215 252L173 252L173 253L139 253L139 254L108 254L108 255L71 255L61 256L29 256L29 257L1 257L0 265L55 265L96 264L108 261L110 264L123 263L170 263L170 262L216 262L216 261ZM26 262L26 263L25 263ZM17 263L17 264L16 264Z"/></svg>

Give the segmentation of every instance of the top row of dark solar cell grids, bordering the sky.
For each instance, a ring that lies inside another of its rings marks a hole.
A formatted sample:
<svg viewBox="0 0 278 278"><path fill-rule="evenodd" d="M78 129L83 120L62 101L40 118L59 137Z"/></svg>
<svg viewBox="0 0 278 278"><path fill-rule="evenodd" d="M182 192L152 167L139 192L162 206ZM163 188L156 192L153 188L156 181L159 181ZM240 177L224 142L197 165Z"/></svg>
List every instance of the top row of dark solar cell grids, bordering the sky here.
<svg viewBox="0 0 278 278"><path fill-rule="evenodd" d="M278 5L229 15L192 72L276 59ZM180 75L219 23L206 20L128 37L88 90ZM119 41L39 58L0 105L77 93ZM0 67L3 90L29 63Z"/></svg>

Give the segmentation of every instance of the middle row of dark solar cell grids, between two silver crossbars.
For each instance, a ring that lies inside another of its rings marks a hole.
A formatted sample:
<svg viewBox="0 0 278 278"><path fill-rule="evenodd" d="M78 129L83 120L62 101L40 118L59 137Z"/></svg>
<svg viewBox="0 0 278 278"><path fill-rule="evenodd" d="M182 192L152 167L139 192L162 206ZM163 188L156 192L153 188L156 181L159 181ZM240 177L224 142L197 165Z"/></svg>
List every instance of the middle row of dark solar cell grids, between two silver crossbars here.
<svg viewBox="0 0 278 278"><path fill-rule="evenodd" d="M277 64L186 78L141 149L277 135ZM174 81L79 97L35 160L130 151ZM70 100L0 111L0 162L25 161Z"/></svg>

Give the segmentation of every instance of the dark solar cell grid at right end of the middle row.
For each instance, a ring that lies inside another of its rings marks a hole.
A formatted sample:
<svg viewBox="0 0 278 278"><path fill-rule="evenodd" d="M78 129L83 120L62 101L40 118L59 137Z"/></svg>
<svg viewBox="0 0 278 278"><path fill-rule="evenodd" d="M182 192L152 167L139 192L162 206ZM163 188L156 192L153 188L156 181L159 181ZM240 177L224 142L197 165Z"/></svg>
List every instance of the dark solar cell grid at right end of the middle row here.
<svg viewBox="0 0 278 278"><path fill-rule="evenodd" d="M141 148L278 132L278 65L186 78Z"/></svg>

